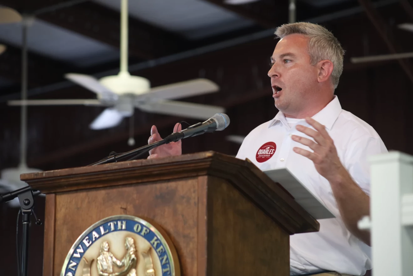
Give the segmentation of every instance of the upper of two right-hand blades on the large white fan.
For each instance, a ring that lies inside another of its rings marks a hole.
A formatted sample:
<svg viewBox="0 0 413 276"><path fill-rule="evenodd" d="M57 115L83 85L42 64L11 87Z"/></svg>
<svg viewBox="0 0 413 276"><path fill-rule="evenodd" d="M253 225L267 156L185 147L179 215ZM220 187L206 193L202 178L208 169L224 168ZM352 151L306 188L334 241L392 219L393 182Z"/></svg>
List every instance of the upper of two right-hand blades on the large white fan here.
<svg viewBox="0 0 413 276"><path fill-rule="evenodd" d="M193 79L186 82L157 86L145 95L159 99L178 99L212 93L218 90L219 86L209 79Z"/></svg>

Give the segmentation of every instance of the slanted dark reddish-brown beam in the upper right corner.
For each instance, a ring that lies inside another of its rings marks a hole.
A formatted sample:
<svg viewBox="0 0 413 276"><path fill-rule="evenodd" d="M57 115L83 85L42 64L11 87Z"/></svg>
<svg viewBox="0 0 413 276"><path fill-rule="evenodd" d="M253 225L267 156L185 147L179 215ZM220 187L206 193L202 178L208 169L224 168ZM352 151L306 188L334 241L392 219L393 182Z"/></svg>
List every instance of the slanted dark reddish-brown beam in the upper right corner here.
<svg viewBox="0 0 413 276"><path fill-rule="evenodd" d="M385 41L390 53L402 53L403 51L401 47L392 37L391 28L387 26L379 12L377 12L377 10L373 7L372 2L370 0L358 0L358 2L363 7L368 18L370 19L370 22L375 26L375 29ZM413 69L410 62L406 59L399 59L398 62L404 72L406 72L409 79L413 82Z"/></svg>

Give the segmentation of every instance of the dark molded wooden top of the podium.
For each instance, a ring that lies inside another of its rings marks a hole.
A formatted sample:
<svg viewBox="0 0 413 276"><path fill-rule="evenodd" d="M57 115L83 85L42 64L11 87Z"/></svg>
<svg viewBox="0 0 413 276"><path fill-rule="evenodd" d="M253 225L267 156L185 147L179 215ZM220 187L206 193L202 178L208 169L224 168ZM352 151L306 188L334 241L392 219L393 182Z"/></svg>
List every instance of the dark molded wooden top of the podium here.
<svg viewBox="0 0 413 276"><path fill-rule="evenodd" d="M287 224L292 224L287 232L304 233L319 229L318 221L251 161L214 151L25 173L20 179L44 194L56 194L202 175L227 180L275 220L282 217L285 224L284 219L287 219Z"/></svg>

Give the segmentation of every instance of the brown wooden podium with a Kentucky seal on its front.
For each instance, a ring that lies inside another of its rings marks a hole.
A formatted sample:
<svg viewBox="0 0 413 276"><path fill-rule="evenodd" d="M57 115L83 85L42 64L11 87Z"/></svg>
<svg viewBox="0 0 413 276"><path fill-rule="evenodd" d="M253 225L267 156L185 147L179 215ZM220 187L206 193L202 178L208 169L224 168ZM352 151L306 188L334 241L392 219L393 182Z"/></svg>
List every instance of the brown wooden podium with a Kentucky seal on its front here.
<svg viewBox="0 0 413 276"><path fill-rule="evenodd" d="M83 231L113 215L159 224L184 276L290 275L289 235L319 229L250 161L216 152L27 173L21 180L46 194L44 276L60 275Z"/></svg>

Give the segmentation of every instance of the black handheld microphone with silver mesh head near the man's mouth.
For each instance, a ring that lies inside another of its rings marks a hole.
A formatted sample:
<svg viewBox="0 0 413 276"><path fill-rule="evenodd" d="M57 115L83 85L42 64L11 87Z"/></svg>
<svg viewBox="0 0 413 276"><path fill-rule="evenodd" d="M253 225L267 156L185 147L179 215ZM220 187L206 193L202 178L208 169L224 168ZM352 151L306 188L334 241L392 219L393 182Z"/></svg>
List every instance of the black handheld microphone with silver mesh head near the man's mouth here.
<svg viewBox="0 0 413 276"><path fill-rule="evenodd" d="M199 122L195 125L191 125L185 130L174 132L164 138L166 143L176 142L180 139L197 136L206 132L214 132L224 130L230 125L230 118L223 113L216 113L214 116L206 120L205 122Z"/></svg>

